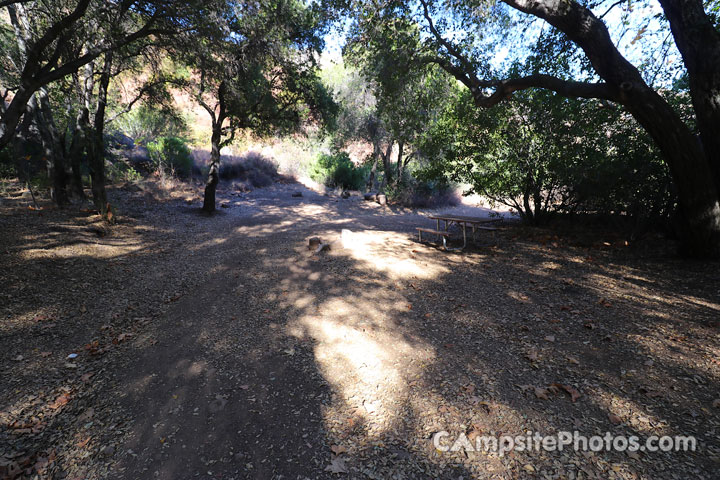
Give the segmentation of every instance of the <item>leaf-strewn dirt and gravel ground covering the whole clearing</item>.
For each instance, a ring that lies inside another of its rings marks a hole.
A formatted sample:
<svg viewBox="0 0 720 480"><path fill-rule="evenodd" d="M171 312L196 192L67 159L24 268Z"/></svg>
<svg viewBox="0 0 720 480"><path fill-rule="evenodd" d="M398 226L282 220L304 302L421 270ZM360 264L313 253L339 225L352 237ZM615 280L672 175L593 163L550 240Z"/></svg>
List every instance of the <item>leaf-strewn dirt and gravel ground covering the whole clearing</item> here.
<svg viewBox="0 0 720 480"><path fill-rule="evenodd" d="M297 184L110 198L113 226L0 203L0 478L718 478L717 263L512 225L448 253L427 212Z"/></svg>

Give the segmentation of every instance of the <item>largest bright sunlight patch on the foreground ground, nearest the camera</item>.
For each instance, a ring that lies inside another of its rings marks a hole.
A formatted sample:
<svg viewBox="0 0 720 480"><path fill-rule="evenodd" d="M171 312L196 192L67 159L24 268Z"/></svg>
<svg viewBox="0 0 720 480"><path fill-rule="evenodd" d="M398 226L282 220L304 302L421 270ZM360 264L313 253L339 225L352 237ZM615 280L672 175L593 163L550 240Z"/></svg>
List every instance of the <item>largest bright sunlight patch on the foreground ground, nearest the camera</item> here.
<svg viewBox="0 0 720 480"><path fill-rule="evenodd" d="M370 299L332 298L288 326L291 335L312 342L340 404L355 409L370 435L382 433L402 413L408 383L435 357L431 346L398 331L386 307Z"/></svg>

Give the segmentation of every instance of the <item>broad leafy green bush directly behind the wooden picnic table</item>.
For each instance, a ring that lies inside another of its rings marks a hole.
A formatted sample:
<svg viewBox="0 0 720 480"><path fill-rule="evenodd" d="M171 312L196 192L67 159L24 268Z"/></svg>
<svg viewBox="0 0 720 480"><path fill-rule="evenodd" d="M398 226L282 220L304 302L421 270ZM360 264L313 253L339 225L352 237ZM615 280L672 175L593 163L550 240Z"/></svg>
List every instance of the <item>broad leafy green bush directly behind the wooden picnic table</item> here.
<svg viewBox="0 0 720 480"><path fill-rule="evenodd" d="M421 178L447 179L539 223L552 212L668 218L667 167L637 123L598 102L526 91L478 110L455 94L424 145Z"/></svg>

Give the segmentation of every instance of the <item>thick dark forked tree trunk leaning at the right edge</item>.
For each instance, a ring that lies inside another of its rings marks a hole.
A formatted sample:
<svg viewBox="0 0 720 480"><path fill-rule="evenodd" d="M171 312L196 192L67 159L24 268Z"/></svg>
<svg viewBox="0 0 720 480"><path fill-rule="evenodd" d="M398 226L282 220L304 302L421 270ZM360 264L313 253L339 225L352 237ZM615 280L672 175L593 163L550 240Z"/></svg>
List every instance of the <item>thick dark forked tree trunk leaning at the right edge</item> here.
<svg viewBox="0 0 720 480"><path fill-rule="evenodd" d="M684 217L682 251L691 256L720 257L720 190L718 126L720 125L720 45L717 32L709 33L700 0L663 0L678 48L691 73L693 101L703 132L702 144L672 107L643 80L635 66L617 50L607 27L578 2L555 0L503 0L508 5L546 20L576 43L600 77L607 82L614 101L622 104L657 143L678 190ZM702 39L710 42L702 47ZM691 41L690 39L695 39ZM706 49L712 55L705 58ZM704 72L704 73L703 73ZM693 80L694 78L694 80ZM567 85L567 84L566 84ZM525 87L527 88L527 87ZM562 93L562 90L559 90ZM696 106L697 108L697 106ZM705 122L705 123L703 123ZM717 145L716 145L717 144ZM704 147L704 148L703 148Z"/></svg>

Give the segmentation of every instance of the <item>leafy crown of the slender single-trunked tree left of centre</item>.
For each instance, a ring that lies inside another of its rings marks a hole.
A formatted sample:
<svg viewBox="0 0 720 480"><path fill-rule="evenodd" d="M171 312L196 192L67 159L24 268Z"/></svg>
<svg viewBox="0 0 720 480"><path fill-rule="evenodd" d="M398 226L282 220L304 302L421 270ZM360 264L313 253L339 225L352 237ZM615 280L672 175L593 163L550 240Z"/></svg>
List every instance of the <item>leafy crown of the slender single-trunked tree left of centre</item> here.
<svg viewBox="0 0 720 480"><path fill-rule="evenodd" d="M228 7L229 8L229 7ZM219 31L186 36L179 56L199 73L187 84L210 115L220 147L239 130L284 134L336 111L317 76L322 10L297 0L232 4Z"/></svg>

